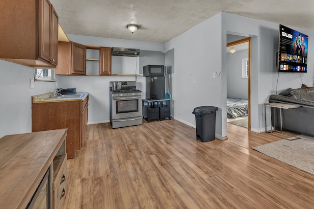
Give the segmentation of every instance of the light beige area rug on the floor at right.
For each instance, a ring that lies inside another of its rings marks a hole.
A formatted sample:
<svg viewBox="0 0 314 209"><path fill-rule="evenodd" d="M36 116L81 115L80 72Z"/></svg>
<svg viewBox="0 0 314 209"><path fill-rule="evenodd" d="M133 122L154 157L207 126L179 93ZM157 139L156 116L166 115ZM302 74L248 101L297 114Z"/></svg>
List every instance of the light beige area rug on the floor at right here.
<svg viewBox="0 0 314 209"><path fill-rule="evenodd" d="M314 175L314 140L283 139L252 149Z"/></svg>

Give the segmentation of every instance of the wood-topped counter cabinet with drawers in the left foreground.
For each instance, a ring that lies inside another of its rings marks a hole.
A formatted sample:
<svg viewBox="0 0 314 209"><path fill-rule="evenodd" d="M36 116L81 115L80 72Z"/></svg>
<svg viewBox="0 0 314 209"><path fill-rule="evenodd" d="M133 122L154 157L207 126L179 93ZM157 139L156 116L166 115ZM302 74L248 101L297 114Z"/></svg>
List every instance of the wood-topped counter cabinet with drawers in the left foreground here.
<svg viewBox="0 0 314 209"><path fill-rule="evenodd" d="M8 135L0 139L1 209L25 209L47 173L49 192L45 196L49 197L49 208L59 208L62 200L59 200L57 191L64 191L64 200L66 181L62 184L55 181L60 175L64 180L67 178L66 136L67 129L58 129Z"/></svg>

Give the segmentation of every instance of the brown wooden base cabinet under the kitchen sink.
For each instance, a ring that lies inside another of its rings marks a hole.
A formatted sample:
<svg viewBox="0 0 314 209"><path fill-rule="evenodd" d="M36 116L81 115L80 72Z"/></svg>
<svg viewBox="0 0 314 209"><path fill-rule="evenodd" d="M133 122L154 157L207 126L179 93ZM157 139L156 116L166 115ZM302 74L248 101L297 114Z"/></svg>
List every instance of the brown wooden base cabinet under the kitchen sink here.
<svg viewBox="0 0 314 209"><path fill-rule="evenodd" d="M88 95L84 100L32 103L32 132L68 129L66 152L75 158L86 139Z"/></svg>

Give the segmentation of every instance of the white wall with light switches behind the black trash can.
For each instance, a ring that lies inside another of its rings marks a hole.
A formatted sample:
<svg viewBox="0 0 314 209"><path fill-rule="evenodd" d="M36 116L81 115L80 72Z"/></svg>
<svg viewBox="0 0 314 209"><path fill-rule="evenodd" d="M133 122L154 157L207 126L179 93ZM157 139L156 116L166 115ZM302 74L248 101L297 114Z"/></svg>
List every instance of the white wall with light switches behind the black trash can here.
<svg viewBox="0 0 314 209"><path fill-rule="evenodd" d="M175 73L171 74L174 118L195 127L195 107L218 107L216 137L222 139L221 13L166 42L165 47L166 51L175 49Z"/></svg>

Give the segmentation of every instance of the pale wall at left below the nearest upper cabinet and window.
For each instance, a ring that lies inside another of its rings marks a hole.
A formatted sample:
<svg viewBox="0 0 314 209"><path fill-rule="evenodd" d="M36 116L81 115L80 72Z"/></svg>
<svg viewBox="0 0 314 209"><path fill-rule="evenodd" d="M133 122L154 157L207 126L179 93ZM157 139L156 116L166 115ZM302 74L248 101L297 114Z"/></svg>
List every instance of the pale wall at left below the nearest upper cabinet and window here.
<svg viewBox="0 0 314 209"><path fill-rule="evenodd" d="M54 82L35 82L34 69L0 60L0 138L5 135L31 132L31 96L52 92Z"/></svg>

